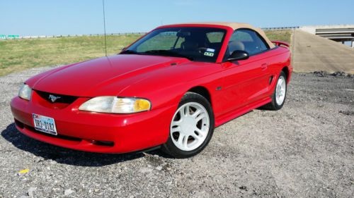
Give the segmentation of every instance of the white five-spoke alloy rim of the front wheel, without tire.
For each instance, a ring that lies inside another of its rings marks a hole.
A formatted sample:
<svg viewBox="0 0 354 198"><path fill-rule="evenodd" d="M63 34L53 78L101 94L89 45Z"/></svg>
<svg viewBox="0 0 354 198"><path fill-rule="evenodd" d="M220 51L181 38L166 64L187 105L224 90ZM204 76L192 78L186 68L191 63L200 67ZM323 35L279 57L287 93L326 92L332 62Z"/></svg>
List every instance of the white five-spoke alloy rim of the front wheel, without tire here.
<svg viewBox="0 0 354 198"><path fill-rule="evenodd" d="M173 115L170 135L178 149L192 151L205 141L210 128L210 118L204 106L188 102Z"/></svg>

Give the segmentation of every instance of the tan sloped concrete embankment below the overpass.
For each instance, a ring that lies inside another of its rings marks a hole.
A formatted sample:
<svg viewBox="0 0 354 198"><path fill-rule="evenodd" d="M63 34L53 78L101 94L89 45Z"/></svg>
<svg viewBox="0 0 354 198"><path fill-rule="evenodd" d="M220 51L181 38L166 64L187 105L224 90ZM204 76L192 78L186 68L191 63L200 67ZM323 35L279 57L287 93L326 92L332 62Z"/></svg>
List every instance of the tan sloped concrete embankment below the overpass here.
<svg viewBox="0 0 354 198"><path fill-rule="evenodd" d="M295 30L293 67L297 72L344 71L354 73L354 49L329 39Z"/></svg>

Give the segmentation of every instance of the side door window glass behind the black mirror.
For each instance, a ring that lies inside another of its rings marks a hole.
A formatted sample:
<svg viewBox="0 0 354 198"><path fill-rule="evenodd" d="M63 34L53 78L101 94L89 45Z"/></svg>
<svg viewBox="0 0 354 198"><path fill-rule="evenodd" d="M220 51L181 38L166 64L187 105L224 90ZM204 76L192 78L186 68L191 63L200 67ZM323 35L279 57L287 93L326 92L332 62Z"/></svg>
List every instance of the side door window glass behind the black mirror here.
<svg viewBox="0 0 354 198"><path fill-rule="evenodd" d="M263 49L260 41L263 42L253 30L236 30L229 40L227 53L232 54L235 50L242 50L247 51L250 56L253 54L258 54L267 48L263 42Z"/></svg>

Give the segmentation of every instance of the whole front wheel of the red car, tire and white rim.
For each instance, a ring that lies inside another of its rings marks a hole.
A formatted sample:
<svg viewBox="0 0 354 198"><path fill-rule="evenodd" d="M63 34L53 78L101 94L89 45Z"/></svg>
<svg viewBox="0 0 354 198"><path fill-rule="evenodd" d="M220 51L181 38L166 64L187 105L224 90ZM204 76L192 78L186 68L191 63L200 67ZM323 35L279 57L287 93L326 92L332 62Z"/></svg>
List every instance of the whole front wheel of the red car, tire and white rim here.
<svg viewBox="0 0 354 198"><path fill-rule="evenodd" d="M209 101L187 92L173 115L169 140L162 150L176 158L194 156L207 146L213 132L214 114Z"/></svg>

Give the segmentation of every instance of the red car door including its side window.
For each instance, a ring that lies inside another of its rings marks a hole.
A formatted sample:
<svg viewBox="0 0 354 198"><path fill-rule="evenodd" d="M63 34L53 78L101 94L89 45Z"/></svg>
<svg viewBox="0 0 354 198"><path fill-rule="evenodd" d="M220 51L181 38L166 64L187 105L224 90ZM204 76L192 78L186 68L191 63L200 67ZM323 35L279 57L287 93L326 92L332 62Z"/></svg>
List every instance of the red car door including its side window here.
<svg viewBox="0 0 354 198"><path fill-rule="evenodd" d="M260 44L260 36L249 29L236 30L225 54L225 60L235 50L244 50L249 58L242 61L225 61L222 95L224 109L234 111L252 104L265 97L269 85L268 59L263 51L269 49L267 44Z"/></svg>

